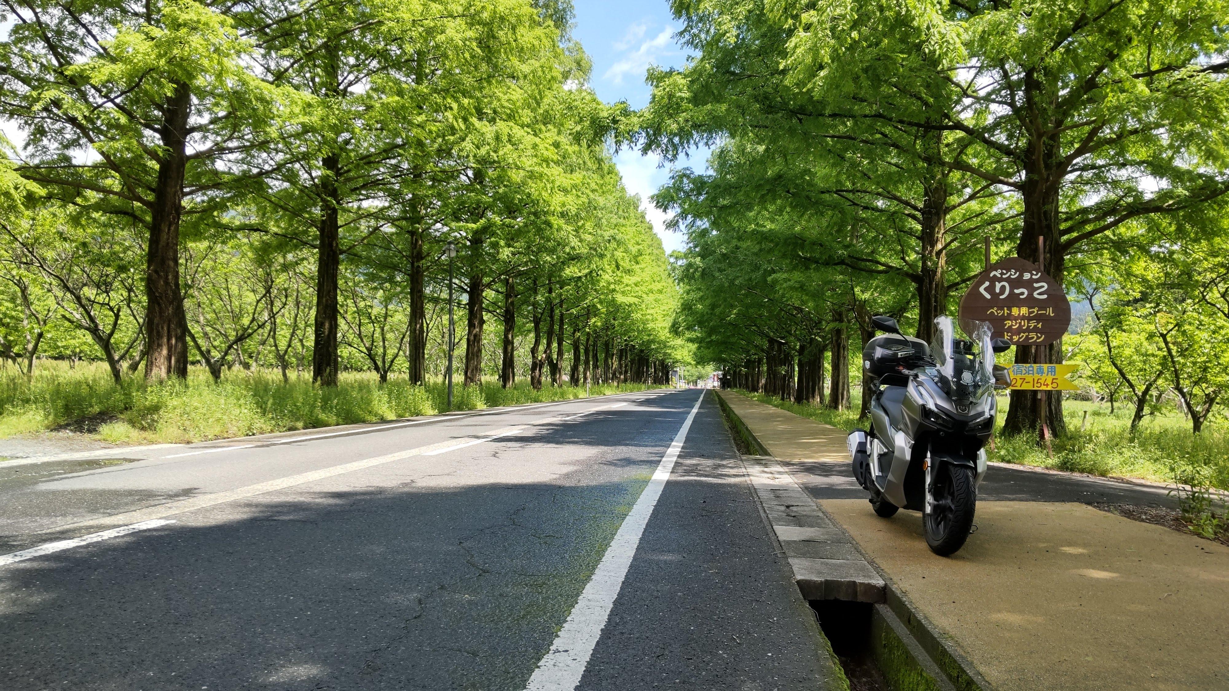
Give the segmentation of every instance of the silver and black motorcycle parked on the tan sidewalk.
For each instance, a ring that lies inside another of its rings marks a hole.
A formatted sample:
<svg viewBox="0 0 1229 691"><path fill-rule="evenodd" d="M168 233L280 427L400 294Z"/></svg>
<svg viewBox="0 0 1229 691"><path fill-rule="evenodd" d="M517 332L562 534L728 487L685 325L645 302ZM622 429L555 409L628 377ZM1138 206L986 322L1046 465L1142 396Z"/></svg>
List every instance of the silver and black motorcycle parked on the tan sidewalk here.
<svg viewBox="0 0 1229 691"><path fill-rule="evenodd" d="M1010 384L994 353L1011 347L976 322L956 338L949 317L935 320L929 346L901 333L896 320L874 317L885 332L862 352L874 385L870 430L848 438L853 476L870 492L875 513L923 513L925 541L941 556L965 545L973 527L977 487L986 476L983 446L994 433L995 387Z"/></svg>

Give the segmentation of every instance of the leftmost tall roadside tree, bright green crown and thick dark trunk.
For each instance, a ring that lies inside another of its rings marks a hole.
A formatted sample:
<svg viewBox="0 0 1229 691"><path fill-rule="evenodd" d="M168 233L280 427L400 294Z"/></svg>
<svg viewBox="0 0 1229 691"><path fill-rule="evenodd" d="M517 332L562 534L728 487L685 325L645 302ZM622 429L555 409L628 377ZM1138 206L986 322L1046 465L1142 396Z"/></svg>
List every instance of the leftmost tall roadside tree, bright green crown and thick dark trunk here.
<svg viewBox="0 0 1229 691"><path fill-rule="evenodd" d="M54 198L146 229L145 375L184 377L181 224L218 209L218 193L248 170L277 91L248 73L249 44L208 2L5 9L0 108L26 135L17 171Z"/></svg>

